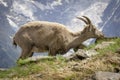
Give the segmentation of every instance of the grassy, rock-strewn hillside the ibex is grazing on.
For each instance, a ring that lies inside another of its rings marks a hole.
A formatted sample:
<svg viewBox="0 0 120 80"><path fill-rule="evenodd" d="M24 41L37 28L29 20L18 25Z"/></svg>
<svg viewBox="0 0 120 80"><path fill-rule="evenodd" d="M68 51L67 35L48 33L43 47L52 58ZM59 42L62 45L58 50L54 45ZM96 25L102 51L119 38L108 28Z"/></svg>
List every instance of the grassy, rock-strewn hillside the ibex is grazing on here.
<svg viewBox="0 0 120 80"><path fill-rule="evenodd" d="M103 42L112 42L112 44L106 46ZM100 44L103 46L98 47ZM68 60L58 55L57 57L47 57L38 60L20 60L17 66L9 70L1 70L0 79L88 80L98 71L117 73L120 72L119 48L119 38L104 39L84 49L86 51L96 50L99 53L87 59Z"/></svg>

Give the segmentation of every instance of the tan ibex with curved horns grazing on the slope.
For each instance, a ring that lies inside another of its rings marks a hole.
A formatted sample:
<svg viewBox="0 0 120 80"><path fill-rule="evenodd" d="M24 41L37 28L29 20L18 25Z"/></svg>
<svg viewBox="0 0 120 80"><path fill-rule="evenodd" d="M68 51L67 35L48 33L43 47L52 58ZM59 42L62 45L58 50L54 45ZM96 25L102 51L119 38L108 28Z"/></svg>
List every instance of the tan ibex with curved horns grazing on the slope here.
<svg viewBox="0 0 120 80"><path fill-rule="evenodd" d="M79 47L89 38L103 37L102 32L86 16L77 17L86 23L83 31L71 32L64 25L47 21L32 21L21 26L13 38L22 53L19 59L31 57L33 52L48 51L49 55L65 54L71 48Z"/></svg>

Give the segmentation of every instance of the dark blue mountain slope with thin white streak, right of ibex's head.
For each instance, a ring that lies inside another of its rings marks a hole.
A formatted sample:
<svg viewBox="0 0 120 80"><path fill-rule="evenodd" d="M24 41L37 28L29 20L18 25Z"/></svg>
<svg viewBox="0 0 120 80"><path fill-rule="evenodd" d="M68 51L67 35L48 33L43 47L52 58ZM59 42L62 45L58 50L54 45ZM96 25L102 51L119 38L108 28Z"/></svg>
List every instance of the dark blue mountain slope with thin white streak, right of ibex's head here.
<svg viewBox="0 0 120 80"><path fill-rule="evenodd" d="M120 37L120 0L111 0L102 16L103 32L108 37Z"/></svg>

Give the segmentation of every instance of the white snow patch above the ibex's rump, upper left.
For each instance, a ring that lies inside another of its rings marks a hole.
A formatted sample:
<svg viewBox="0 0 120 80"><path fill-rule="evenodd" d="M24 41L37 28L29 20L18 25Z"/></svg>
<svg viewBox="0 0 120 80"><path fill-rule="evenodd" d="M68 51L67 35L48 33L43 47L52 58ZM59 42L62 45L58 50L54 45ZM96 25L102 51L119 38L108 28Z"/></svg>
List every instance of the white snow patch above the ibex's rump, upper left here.
<svg viewBox="0 0 120 80"><path fill-rule="evenodd" d="M23 3L24 2L24 3ZM31 20L36 20L34 17L34 12L36 12L36 8L33 4L27 1L14 1L13 3L13 12L24 15L25 17L30 18Z"/></svg>

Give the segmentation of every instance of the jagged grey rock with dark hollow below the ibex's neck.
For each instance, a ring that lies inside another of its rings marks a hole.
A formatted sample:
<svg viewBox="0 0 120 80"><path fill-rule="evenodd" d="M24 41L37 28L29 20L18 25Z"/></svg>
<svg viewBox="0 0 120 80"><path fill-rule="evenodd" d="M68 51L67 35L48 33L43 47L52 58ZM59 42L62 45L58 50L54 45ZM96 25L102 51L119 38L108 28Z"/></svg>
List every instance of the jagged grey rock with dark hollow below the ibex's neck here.
<svg viewBox="0 0 120 80"><path fill-rule="evenodd" d="M67 60L83 60L86 58L90 58L94 55L98 54L95 50L83 50L79 49L76 53L71 54L70 56L66 57Z"/></svg>

